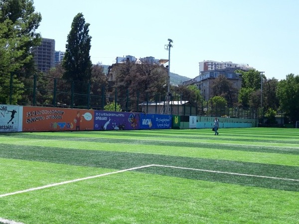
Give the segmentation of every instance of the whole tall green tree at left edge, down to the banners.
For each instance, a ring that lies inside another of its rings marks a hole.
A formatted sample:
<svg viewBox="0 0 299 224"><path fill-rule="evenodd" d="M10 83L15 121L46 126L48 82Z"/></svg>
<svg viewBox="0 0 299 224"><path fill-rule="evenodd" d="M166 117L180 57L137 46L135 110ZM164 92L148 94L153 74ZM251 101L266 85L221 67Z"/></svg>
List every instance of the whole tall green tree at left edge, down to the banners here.
<svg viewBox="0 0 299 224"><path fill-rule="evenodd" d="M16 104L22 97L25 72L34 70L29 50L41 42L40 34L36 33L41 15L34 9L32 0L0 0L0 103ZM15 88L9 102L11 73L18 76L13 75Z"/></svg>

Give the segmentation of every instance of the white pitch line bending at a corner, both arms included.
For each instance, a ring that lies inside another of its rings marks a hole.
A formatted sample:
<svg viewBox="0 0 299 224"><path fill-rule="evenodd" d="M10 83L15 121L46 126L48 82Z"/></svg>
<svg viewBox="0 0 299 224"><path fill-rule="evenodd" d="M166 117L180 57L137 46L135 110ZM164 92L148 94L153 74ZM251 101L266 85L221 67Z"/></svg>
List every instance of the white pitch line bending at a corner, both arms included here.
<svg viewBox="0 0 299 224"><path fill-rule="evenodd" d="M42 186L42 187L30 188L30 189L26 189L26 190L22 190L22 191L7 193L7 194L0 195L0 198L6 197L6 196L9 196L9 195L16 195L16 194L26 193L26 192L29 192L29 191L35 191L35 190L40 190L40 189L44 189L44 188L50 188L50 187L54 187L54 186L58 186L58 185L69 184L69 183L82 181L82 180L88 180L88 179L97 178L97 177L103 177L103 176L116 174L116 173L123 173L123 172L126 172L126 171L137 170L137 169L142 169L142 168L151 167L151 166L168 167L168 168L184 169L184 170L195 170L195 171L211 172L211 173L223 173L223 174L239 175L239 176L247 176L247 177L260 177L260 178L270 178L270 179L277 179L277 180L299 181L297 179L289 179L289 178L268 177L268 176L259 176L259 175L251 175L251 174L230 173L230 172L222 172L222 171L215 171L215 170L203 170L203 169L195 169L195 168L187 168L187 167L151 164L151 165L146 165L146 166L133 167L133 168L130 168L130 169L125 169L125 170L119 170L119 171L110 172L110 173L104 173L104 174L100 174L100 175L96 175L96 176L84 177L84 178L79 178L79 179L70 180L70 181L64 181L64 182L55 183L55 184L49 184L49 185L45 185L45 186Z"/></svg>

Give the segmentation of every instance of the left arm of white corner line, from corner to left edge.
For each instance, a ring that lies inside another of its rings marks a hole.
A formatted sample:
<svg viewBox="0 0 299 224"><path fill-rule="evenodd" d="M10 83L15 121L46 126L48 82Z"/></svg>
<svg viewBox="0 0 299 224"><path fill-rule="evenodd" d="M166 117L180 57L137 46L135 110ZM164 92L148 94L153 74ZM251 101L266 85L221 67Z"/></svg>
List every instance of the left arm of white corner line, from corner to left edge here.
<svg viewBox="0 0 299 224"><path fill-rule="evenodd" d="M64 181L64 182L55 183L55 184L49 184L49 185L45 185L45 186L41 186L41 187L37 187L37 188L29 188L29 189L22 190L22 191L16 191L16 192L0 195L0 198L5 197L5 196L9 196L9 195L16 195L16 194L26 193L26 192L29 192L29 191L35 191L35 190L40 190L40 189L44 189L44 188L50 188L50 187L54 187L54 186L58 186L58 185L69 184L69 183L73 183L73 182L77 182L77 181L88 180L88 179L97 178L97 177L103 177L103 176L107 176L107 175L111 175L111 174L123 173L123 172L126 172L126 171L142 169L142 168L146 168L146 167L150 167L150 166L152 166L152 165L134 167L134 168L125 169L125 170L118 170L118 171L115 171L115 172L104 173L104 174L100 174L100 175L96 175L96 176L84 177L84 178Z"/></svg>

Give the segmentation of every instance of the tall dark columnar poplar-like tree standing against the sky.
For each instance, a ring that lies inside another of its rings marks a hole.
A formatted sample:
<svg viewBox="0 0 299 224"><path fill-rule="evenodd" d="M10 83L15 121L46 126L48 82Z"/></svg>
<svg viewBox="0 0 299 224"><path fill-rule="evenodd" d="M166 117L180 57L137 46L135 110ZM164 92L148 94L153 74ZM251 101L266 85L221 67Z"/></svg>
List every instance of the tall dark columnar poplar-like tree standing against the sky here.
<svg viewBox="0 0 299 224"><path fill-rule="evenodd" d="M91 36L89 23L85 23L82 13L78 13L72 22L71 31L67 35L65 55L62 67L63 78L74 81L76 93L87 94L87 83L91 78L92 63L90 60Z"/></svg>

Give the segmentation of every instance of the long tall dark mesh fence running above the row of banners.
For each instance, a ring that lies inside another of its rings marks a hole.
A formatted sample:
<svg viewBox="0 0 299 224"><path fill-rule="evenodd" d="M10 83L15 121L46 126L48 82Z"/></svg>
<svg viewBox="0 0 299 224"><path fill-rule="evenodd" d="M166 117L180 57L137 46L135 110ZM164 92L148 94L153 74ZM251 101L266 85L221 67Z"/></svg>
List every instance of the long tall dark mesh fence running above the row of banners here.
<svg viewBox="0 0 299 224"><path fill-rule="evenodd" d="M105 105L116 102L123 112L145 112L202 115L219 117L252 118L259 117L259 110L241 108L233 105L218 106L211 102L192 102L180 94L174 93L165 102L166 93L131 92L117 86L100 86L97 83L86 83L72 80L58 79L43 75L33 75L23 79L23 85L16 85L19 80L11 75L0 89L0 94L6 94L9 99L0 104L14 104L20 106L61 107L104 110ZM19 95L19 96L16 96ZM15 100L16 99L16 100ZM161 110L166 108L167 111Z"/></svg>

